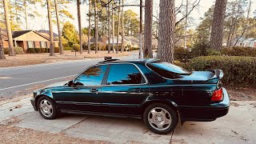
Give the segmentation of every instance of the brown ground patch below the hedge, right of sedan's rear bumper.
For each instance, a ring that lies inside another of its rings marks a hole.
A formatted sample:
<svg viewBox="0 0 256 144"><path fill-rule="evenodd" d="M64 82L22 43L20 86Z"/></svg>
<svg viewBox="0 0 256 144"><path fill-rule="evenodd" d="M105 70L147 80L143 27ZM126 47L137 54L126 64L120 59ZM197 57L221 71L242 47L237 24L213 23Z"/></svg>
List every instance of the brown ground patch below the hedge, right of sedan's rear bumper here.
<svg viewBox="0 0 256 144"><path fill-rule="evenodd" d="M227 89L231 101L256 101L256 89Z"/></svg>

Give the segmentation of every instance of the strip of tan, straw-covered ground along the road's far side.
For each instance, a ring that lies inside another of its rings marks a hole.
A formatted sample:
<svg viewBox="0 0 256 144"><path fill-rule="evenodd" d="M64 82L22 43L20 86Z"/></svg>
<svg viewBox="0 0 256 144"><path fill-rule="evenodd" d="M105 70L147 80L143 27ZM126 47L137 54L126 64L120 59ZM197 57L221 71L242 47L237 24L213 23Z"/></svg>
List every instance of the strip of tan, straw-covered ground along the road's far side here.
<svg viewBox="0 0 256 144"><path fill-rule="evenodd" d="M98 54L95 54L94 51L91 51L88 54L84 51L83 54L75 53L71 50L66 50L64 54L56 53L55 56L49 56L48 53L43 54L17 54L16 56L8 56L6 55L5 60L0 61L0 67L7 66L26 66L26 65L35 65L39 63L51 63L51 62L63 62L63 61L72 61L72 60L80 60L86 58L104 58L104 57L122 57L128 56L131 52L123 52L123 53L110 53L107 54L107 51L98 51Z"/></svg>

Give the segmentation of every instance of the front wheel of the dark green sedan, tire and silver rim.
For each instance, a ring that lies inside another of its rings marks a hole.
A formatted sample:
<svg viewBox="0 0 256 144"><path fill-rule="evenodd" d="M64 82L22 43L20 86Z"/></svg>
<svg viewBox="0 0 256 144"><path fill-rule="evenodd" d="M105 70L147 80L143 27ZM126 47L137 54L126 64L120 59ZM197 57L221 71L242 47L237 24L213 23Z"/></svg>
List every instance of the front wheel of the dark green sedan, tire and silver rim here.
<svg viewBox="0 0 256 144"><path fill-rule="evenodd" d="M54 119L58 116L58 110L55 106L54 101L51 98L42 96L38 99L38 111L42 118Z"/></svg>

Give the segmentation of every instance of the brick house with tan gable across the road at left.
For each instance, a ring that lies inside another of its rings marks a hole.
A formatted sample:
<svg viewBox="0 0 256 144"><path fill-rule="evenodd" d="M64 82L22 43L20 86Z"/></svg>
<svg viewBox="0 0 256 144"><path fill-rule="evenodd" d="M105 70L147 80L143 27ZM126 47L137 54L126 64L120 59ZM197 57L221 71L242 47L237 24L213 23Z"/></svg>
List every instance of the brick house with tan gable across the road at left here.
<svg viewBox="0 0 256 144"><path fill-rule="evenodd" d="M3 46L8 47L8 38L6 30L2 30ZM50 38L46 34L40 34L34 30L18 30L12 33L14 46L22 47L24 52L28 52L29 48L49 48ZM58 39L54 39L54 42L58 42ZM54 44L58 47L58 43Z"/></svg>

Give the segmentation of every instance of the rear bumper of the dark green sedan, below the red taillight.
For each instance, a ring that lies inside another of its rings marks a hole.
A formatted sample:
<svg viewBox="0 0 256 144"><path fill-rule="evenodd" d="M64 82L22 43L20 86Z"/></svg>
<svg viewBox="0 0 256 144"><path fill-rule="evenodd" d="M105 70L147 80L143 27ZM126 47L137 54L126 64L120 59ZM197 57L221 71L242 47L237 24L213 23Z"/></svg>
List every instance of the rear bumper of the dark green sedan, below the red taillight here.
<svg viewBox="0 0 256 144"><path fill-rule="evenodd" d="M178 106L178 112L182 122L185 121L214 121L229 112L230 98L223 88L222 102L213 103L209 106Z"/></svg>

